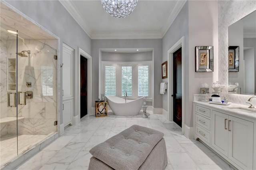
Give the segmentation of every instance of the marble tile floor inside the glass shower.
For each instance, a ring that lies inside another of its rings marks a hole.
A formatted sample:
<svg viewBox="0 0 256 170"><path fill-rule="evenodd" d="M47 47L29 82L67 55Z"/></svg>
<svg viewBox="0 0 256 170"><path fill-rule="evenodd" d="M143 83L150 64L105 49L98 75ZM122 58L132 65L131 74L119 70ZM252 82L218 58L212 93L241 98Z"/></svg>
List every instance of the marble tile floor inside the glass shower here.
<svg viewBox="0 0 256 170"><path fill-rule="evenodd" d="M18 136L18 154L34 146L43 140L47 135L21 134ZM0 138L0 162L11 160L17 156L17 137L15 134L1 136Z"/></svg>

